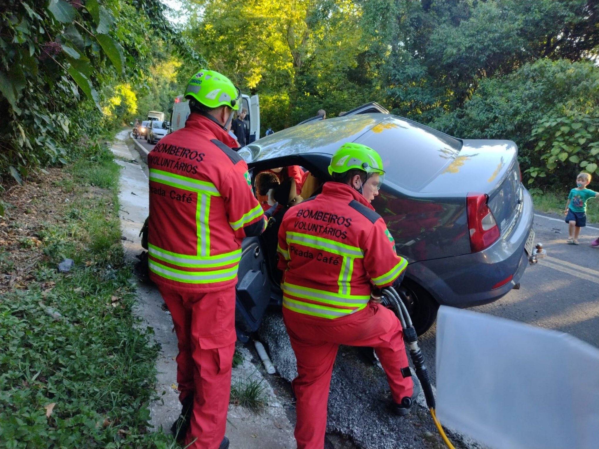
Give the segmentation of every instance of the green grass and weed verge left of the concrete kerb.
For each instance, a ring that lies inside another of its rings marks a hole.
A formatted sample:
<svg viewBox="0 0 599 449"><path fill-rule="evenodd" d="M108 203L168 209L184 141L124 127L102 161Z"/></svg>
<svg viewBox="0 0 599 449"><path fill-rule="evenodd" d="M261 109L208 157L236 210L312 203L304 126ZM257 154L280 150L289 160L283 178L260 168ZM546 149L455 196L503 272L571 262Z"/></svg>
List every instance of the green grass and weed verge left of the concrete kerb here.
<svg viewBox="0 0 599 449"><path fill-rule="evenodd" d="M40 232L44 262L0 298L0 448L176 447L147 428L159 347L132 311L119 168L105 150L68 171L73 199ZM61 274L65 257L75 266Z"/></svg>

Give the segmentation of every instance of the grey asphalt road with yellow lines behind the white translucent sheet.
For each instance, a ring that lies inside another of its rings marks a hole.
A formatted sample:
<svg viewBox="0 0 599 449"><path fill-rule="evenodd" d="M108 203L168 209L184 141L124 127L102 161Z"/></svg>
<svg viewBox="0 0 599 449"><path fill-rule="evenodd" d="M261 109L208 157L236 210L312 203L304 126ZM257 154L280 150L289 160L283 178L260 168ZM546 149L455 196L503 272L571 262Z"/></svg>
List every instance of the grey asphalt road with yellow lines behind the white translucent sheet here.
<svg viewBox="0 0 599 449"><path fill-rule="evenodd" d="M577 246L566 244L568 227L562 217L535 214L533 229L547 257L527 267L519 290L472 310L567 332L599 347L599 249L591 247L599 226L584 228ZM433 378L435 336L435 326L420 336Z"/></svg>

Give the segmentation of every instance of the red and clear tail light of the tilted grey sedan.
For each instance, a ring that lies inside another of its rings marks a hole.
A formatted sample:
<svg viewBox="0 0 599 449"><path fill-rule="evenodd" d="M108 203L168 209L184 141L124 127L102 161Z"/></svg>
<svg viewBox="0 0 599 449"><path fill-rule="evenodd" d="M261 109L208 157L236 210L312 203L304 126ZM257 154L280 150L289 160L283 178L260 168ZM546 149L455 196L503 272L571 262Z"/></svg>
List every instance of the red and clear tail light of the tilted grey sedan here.
<svg viewBox="0 0 599 449"><path fill-rule="evenodd" d="M470 230L470 248L473 253L488 248L500 236L499 226L487 205L489 196L485 193L468 193L466 213Z"/></svg>

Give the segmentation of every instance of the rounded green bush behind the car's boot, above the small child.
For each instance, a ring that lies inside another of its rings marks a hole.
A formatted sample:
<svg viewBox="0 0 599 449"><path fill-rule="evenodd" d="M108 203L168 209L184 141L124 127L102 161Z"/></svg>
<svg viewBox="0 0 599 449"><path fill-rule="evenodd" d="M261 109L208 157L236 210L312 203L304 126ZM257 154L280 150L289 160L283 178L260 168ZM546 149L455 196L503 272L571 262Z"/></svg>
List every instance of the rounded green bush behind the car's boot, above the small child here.
<svg viewBox="0 0 599 449"><path fill-rule="evenodd" d="M577 171L596 169L598 116L597 66L540 59L481 81L470 101L431 126L461 138L513 140L527 182L560 188Z"/></svg>

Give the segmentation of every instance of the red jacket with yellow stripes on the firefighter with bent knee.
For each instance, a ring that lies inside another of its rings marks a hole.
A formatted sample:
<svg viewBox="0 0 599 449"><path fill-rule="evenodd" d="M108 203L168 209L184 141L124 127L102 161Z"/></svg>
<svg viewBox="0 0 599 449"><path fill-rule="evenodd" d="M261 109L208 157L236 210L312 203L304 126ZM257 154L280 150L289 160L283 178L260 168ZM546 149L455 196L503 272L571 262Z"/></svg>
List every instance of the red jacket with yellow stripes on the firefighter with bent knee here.
<svg viewBox="0 0 599 449"><path fill-rule="evenodd" d="M374 286L406 269L383 219L352 187L329 182L290 208L279 229L283 307L322 318L362 310Z"/></svg>

